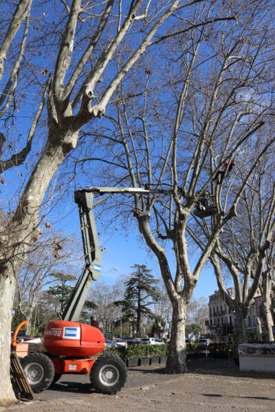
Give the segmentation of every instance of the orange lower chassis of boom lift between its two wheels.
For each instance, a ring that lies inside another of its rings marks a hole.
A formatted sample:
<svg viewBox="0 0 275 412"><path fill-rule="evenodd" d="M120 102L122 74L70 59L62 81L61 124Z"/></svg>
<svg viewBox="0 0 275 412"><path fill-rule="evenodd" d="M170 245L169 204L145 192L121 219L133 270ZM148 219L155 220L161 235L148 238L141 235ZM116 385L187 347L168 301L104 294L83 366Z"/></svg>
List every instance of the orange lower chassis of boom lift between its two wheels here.
<svg viewBox="0 0 275 412"><path fill-rule="evenodd" d="M82 359L63 359L52 358L54 364L55 374L81 374L89 375L91 367L96 362L96 358L82 358Z"/></svg>

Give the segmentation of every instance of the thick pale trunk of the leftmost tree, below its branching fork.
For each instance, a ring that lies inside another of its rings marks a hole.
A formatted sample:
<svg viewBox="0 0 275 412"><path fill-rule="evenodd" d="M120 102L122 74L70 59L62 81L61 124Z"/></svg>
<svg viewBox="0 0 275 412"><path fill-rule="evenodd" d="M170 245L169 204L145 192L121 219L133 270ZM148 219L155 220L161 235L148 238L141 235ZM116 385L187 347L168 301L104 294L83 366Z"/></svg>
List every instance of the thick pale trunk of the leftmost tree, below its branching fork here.
<svg viewBox="0 0 275 412"><path fill-rule="evenodd" d="M50 135L50 141L45 147L41 158L34 168L31 179L25 187L21 202L14 213L13 218L5 227L8 236L2 240L0 259L0 361L4 365L10 358L10 325L12 323L12 308L16 286L17 274L24 262L25 254L31 244L39 239L41 229L39 227L39 212L43 197L50 180L65 159L67 152L75 147L77 133L67 133L64 137ZM58 144L59 141L59 144ZM14 400L14 393L10 384L10 368L1 369L1 391L5 396L1 399Z"/></svg>

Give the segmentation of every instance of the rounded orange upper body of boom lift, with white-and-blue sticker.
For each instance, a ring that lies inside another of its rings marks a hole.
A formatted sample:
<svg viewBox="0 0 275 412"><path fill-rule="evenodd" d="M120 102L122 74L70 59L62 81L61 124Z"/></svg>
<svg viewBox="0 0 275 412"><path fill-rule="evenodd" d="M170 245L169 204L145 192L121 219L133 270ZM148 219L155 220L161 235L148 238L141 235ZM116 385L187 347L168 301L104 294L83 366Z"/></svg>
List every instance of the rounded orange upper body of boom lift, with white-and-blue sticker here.
<svg viewBox="0 0 275 412"><path fill-rule="evenodd" d="M83 358L105 349L102 332L94 326L70 321L52 321L44 332L43 345L50 354Z"/></svg>

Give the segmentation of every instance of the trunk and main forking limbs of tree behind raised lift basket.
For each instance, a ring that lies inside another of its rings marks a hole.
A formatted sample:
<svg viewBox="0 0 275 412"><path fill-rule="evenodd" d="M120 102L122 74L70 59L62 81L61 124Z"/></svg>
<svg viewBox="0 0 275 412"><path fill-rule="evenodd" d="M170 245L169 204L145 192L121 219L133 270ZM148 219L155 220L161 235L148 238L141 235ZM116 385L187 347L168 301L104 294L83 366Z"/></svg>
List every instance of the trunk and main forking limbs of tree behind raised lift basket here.
<svg viewBox="0 0 275 412"><path fill-rule="evenodd" d="M166 251L161 244L157 242L156 238L151 232L149 225L149 216L142 213L139 209L139 200L136 198L136 209L134 215L137 218L140 232L144 236L144 240L159 263L159 270L162 273L164 284L173 306L172 323L170 328L170 342L168 349L168 357L166 361L166 372L168 374L184 374L188 371L186 365L186 341L185 341L185 327L186 327L186 310L187 305L192 297L193 290L199 279L199 275L206 264L208 257L214 247L214 242L219 235L219 230L212 237L212 242L201 253L200 259L195 266L194 271L190 271L188 264L188 243L185 238L186 222L188 210L181 207L178 202L178 213L180 218L175 219L173 231L170 233L170 240L173 242L175 260L177 262L175 273L170 269ZM184 286L183 286L184 284Z"/></svg>

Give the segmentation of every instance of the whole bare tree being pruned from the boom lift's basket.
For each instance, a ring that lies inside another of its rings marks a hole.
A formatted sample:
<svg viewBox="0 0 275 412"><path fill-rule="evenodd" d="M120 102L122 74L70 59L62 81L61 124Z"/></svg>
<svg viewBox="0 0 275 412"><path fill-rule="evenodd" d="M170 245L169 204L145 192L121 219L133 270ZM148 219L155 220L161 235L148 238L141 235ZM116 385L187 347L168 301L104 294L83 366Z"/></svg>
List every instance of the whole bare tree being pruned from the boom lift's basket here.
<svg viewBox="0 0 275 412"><path fill-rule="evenodd" d="M238 23L195 27L159 45L162 60L157 65L148 59L120 85L117 112L109 128L98 129L106 148L104 177L92 174L92 181L151 190L133 202L116 197L115 206L120 216L133 212L173 306L168 373L187 371L186 306L257 162L274 148L268 5L243 3ZM263 17L265 34L259 32ZM166 76L160 81L156 73ZM147 90L142 99L140 87ZM100 161L92 155L90 160ZM233 191L230 179L242 168ZM111 199L104 205L113 206ZM196 251L188 245L190 235Z"/></svg>

